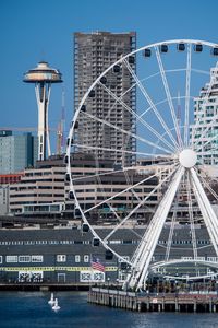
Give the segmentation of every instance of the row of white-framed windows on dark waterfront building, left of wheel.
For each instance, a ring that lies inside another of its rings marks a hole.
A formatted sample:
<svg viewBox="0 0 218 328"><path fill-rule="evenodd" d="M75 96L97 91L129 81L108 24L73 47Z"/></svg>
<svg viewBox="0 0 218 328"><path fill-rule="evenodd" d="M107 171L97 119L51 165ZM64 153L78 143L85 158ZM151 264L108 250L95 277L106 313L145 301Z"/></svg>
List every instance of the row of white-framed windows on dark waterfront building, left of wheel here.
<svg viewBox="0 0 218 328"><path fill-rule="evenodd" d="M85 263L88 263L90 260L89 255L75 255L74 260L76 263L80 263L82 260ZM39 263L44 261L43 255L7 255L5 256L5 262L7 263ZM56 255L56 261L57 262L66 262L66 255L65 254L58 254ZM0 263L3 262L2 255L0 256Z"/></svg>

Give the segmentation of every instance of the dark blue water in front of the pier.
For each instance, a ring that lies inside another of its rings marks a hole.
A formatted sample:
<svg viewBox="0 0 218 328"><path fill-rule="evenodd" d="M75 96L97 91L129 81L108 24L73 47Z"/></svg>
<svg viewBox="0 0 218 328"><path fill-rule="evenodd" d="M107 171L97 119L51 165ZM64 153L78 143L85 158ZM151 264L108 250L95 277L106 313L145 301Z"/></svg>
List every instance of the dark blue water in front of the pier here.
<svg viewBox="0 0 218 328"><path fill-rule="evenodd" d="M61 309L48 304L50 293L0 292L0 328L216 328L218 314L133 313L88 304L87 294L57 292Z"/></svg>

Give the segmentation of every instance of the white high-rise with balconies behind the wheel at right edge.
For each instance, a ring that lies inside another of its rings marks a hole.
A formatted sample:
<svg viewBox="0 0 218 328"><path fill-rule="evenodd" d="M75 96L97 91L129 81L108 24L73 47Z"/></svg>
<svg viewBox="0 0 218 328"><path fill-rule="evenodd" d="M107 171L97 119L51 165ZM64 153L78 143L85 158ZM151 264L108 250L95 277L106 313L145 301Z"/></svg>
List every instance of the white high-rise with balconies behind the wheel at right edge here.
<svg viewBox="0 0 218 328"><path fill-rule="evenodd" d="M205 165L218 164L218 68L211 68L210 81L194 99L194 125L191 138Z"/></svg>

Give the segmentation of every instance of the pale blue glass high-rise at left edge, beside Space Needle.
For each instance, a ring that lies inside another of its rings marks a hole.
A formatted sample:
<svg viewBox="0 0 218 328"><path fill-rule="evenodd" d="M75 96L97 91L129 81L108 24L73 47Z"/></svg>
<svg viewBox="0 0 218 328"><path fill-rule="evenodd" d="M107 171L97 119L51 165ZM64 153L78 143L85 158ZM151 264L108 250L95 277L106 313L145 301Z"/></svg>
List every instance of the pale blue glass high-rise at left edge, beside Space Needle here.
<svg viewBox="0 0 218 328"><path fill-rule="evenodd" d="M0 131L0 174L21 172L34 166L37 159L37 138L32 133L13 136Z"/></svg>

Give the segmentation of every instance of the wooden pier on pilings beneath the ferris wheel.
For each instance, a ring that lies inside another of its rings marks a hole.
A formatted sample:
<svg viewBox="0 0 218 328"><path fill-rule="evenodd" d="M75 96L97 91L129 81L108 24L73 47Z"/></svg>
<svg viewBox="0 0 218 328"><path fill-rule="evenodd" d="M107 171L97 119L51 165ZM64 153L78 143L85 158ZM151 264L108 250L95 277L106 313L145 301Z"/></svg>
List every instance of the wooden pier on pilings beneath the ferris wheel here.
<svg viewBox="0 0 218 328"><path fill-rule="evenodd" d="M88 292L88 302L135 312L218 312L217 293L147 294L92 288Z"/></svg>

